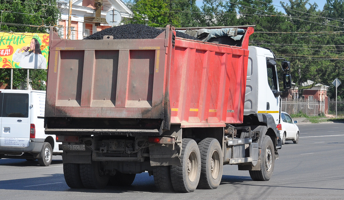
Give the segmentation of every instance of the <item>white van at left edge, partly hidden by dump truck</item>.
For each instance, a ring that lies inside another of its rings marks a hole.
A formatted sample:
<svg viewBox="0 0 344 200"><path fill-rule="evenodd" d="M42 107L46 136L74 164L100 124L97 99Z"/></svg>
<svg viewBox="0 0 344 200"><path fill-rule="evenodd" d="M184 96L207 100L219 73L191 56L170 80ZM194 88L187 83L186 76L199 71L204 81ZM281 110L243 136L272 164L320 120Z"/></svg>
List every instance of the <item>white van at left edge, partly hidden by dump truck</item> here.
<svg viewBox="0 0 344 200"><path fill-rule="evenodd" d="M49 166L61 155L55 135L44 133L45 91L0 90L0 159L38 159Z"/></svg>

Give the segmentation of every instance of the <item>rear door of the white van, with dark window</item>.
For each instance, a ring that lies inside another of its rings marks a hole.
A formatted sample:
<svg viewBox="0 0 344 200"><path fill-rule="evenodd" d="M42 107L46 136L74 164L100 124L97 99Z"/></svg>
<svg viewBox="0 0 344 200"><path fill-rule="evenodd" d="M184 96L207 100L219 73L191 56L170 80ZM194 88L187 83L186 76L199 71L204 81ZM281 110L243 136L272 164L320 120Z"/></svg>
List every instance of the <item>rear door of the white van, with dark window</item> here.
<svg viewBox="0 0 344 200"><path fill-rule="evenodd" d="M26 91L25 91L26 92ZM4 90L0 145L28 147L30 140L29 94Z"/></svg>

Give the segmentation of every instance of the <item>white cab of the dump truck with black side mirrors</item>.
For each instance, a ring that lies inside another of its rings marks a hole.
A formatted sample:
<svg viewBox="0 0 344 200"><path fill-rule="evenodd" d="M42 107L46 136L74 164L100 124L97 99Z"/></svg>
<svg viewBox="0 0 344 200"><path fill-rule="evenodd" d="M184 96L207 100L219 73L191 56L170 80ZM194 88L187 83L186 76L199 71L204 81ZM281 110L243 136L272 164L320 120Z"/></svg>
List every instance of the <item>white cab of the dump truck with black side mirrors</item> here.
<svg viewBox="0 0 344 200"><path fill-rule="evenodd" d="M275 129L280 121L280 91L276 69L276 60L279 58L266 48L249 46L248 50L244 115L254 114L268 127ZM288 61L282 62L282 69L288 71L289 65ZM290 83L290 74L284 74L283 87L289 89ZM281 138L277 140L277 148L281 148Z"/></svg>

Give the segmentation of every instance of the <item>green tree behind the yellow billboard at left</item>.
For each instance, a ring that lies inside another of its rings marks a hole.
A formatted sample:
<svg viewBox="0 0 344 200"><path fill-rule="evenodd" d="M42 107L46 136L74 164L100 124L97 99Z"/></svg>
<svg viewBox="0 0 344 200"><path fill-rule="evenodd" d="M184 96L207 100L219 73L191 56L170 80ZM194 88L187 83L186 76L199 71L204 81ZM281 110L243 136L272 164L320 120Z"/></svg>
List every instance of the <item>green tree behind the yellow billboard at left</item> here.
<svg viewBox="0 0 344 200"><path fill-rule="evenodd" d="M47 33L47 26L56 25L60 17L56 0L0 0L1 26L3 32ZM45 90L46 70L30 70L33 89ZM11 84L9 69L0 69L0 82ZM26 85L26 69L13 69L13 87Z"/></svg>

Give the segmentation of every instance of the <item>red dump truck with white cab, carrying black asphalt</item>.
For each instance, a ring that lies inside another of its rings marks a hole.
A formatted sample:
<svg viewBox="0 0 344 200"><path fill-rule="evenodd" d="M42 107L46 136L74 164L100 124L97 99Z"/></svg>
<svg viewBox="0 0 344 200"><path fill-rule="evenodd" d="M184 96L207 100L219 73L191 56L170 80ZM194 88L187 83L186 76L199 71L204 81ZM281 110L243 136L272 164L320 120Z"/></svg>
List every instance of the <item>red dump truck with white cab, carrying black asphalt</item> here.
<svg viewBox="0 0 344 200"><path fill-rule="evenodd" d="M278 58L248 46L252 26L230 28L241 30L232 43L176 37L171 25L133 40L65 40L52 28L44 126L62 142L67 185L131 185L148 171L159 190L215 189L226 164L269 180L281 148Z"/></svg>

